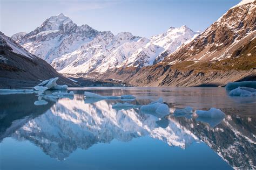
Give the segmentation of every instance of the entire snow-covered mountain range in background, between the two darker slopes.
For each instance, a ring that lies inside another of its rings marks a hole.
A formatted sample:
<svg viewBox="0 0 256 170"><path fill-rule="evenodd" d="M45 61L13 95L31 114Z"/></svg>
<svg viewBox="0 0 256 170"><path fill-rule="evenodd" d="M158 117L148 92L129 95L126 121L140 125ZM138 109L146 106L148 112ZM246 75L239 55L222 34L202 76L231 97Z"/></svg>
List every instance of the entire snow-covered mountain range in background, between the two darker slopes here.
<svg viewBox="0 0 256 170"><path fill-rule="evenodd" d="M186 26L170 27L150 39L130 32L117 35L77 26L60 13L45 20L17 42L32 54L51 63L60 73L104 73L126 66L148 66L164 59L197 33ZM14 36L15 37L15 36ZM14 38L15 39L15 38Z"/></svg>

